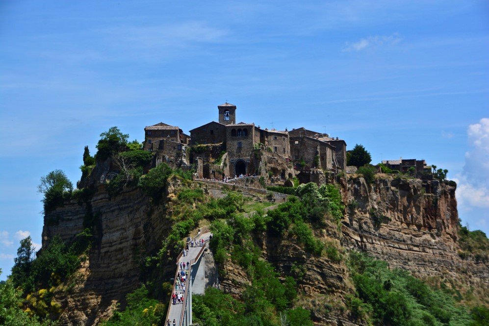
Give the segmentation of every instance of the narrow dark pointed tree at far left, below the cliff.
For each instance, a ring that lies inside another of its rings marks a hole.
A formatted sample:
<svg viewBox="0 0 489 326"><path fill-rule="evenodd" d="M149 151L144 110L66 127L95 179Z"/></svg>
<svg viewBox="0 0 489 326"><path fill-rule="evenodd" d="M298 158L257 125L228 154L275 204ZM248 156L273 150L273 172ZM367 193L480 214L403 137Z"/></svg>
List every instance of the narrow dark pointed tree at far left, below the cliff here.
<svg viewBox="0 0 489 326"><path fill-rule="evenodd" d="M30 236L21 240L20 247L17 249L17 257L14 258L14 267L12 267L12 282L16 287L25 286L29 282L29 275L32 265L32 259L34 258L34 246L32 245L32 239Z"/></svg>

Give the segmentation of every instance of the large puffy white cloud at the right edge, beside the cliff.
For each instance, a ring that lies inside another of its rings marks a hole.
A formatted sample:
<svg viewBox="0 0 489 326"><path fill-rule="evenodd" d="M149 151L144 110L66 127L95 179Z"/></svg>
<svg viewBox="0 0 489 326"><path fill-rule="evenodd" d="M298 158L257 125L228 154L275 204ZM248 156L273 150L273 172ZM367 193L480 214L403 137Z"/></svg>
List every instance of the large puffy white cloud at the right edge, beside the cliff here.
<svg viewBox="0 0 489 326"><path fill-rule="evenodd" d="M489 118L467 129L471 149L465 153L463 171L457 176L457 200L463 209L489 208Z"/></svg>

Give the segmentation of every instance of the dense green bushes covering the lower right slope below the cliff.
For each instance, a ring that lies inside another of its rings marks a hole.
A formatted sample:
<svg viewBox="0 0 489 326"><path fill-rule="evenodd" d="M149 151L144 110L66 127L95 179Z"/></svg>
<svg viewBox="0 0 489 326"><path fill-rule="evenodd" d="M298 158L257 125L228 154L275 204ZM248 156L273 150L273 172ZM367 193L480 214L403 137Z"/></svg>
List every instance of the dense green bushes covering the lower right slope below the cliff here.
<svg viewBox="0 0 489 326"><path fill-rule="evenodd" d="M488 325L487 307L468 311L405 270L355 251L348 262L357 291L348 299L353 318L375 325Z"/></svg>

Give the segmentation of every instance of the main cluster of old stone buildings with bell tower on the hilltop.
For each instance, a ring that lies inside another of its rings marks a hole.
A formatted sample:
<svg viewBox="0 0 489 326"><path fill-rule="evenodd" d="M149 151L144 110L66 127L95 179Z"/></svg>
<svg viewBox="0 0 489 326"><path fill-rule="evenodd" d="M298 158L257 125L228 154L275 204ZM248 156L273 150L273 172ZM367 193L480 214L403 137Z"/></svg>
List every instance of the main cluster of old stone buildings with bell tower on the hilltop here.
<svg viewBox="0 0 489 326"><path fill-rule="evenodd" d="M226 102L217 108L218 122L196 127L190 130L190 136L178 126L164 123L147 126L144 149L155 153L154 164L181 165L180 158L184 158L184 163L203 164L196 170L202 171L204 177L256 174L279 177L283 181L308 169L333 172L346 169L346 143L343 140L304 127L289 132L287 129L262 129L254 123L236 123L236 105ZM187 152L186 144L190 146ZM258 162L256 150L276 156L272 160ZM225 162L215 164L223 152L227 154ZM197 157L202 160L197 160Z"/></svg>

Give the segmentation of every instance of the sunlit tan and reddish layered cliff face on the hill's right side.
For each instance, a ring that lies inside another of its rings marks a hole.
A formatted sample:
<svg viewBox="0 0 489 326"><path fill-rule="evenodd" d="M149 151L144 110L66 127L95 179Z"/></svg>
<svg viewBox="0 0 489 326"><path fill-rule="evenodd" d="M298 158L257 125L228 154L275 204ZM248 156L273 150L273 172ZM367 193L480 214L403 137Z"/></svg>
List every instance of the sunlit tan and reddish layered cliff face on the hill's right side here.
<svg viewBox="0 0 489 326"><path fill-rule="evenodd" d="M349 206L342 226L344 247L367 251L432 284L443 282L488 298L488 264L457 254L455 185L391 176L372 185L361 177L342 179L340 185Z"/></svg>

